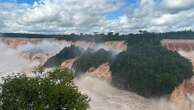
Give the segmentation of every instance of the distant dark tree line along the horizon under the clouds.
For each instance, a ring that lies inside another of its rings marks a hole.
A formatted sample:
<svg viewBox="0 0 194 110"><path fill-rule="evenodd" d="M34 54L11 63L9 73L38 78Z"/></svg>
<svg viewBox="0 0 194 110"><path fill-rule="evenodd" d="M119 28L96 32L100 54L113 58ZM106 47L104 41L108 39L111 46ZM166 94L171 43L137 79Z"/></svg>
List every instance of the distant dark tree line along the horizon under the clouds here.
<svg viewBox="0 0 194 110"><path fill-rule="evenodd" d="M54 38L58 40L70 40L70 41L95 41L95 42L104 42L104 41L115 41L115 40L129 40L134 37L157 37L160 39L194 39L194 31L185 30L185 31L176 31L176 32L163 32L163 33L155 33L148 32L145 30L140 30L139 33L129 33L129 34L121 34L121 33L98 33L95 32L93 34L65 34L65 35L44 35L44 34L26 34L26 33L1 33L0 37L18 37L18 38Z"/></svg>

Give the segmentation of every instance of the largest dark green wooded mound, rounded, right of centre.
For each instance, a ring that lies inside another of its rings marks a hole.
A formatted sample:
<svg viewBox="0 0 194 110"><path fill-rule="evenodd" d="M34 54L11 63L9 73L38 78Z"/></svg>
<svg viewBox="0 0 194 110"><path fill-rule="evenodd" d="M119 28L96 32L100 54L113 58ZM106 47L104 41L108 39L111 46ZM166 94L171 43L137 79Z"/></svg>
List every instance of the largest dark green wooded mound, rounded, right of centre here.
<svg viewBox="0 0 194 110"><path fill-rule="evenodd" d="M136 42L111 63L113 85L155 97L171 93L184 79L192 77L189 60L149 42Z"/></svg>

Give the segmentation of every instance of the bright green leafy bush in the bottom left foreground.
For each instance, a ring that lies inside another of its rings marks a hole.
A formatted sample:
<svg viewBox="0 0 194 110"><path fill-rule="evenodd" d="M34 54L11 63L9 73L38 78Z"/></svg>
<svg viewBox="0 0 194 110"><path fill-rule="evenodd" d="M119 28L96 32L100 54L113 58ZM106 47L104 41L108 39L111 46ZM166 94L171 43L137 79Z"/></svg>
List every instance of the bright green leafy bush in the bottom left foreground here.
<svg viewBox="0 0 194 110"><path fill-rule="evenodd" d="M86 110L89 99L73 84L69 70L55 70L48 76L7 77L1 85L1 110Z"/></svg>

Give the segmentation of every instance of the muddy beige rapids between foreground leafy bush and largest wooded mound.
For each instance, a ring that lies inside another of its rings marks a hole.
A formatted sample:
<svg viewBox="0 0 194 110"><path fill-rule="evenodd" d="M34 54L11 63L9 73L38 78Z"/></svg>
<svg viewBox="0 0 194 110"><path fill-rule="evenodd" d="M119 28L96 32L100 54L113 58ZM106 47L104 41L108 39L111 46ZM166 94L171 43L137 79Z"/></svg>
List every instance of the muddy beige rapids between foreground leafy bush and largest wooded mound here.
<svg viewBox="0 0 194 110"><path fill-rule="evenodd" d="M75 80L82 93L90 98L91 110L143 110L145 99L112 87L109 82L84 75Z"/></svg>

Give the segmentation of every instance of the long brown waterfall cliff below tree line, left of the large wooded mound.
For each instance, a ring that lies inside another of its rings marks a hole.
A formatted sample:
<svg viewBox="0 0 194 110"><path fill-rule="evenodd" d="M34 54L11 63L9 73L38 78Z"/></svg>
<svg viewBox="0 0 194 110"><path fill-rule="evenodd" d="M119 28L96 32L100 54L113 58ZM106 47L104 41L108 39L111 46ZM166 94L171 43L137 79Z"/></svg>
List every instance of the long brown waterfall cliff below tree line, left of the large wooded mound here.
<svg viewBox="0 0 194 110"><path fill-rule="evenodd" d="M41 64L44 64L50 57L55 56L64 47L69 47L71 45L85 50L88 48L93 50L99 50L103 48L114 53L119 53L127 49L127 44L124 41L108 41L103 43L96 43L86 41L73 42L66 40L56 40L54 38L0 38L0 42L10 48L18 50L19 57L25 58L32 62L41 62Z"/></svg>

